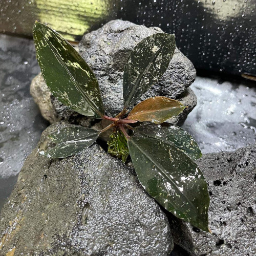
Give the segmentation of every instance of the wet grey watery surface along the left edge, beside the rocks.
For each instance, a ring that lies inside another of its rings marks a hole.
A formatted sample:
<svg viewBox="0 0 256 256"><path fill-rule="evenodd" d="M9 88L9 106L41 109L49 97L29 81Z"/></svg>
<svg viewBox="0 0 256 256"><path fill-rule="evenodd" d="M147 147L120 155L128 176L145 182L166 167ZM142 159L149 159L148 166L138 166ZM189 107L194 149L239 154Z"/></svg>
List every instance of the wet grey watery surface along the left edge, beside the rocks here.
<svg viewBox="0 0 256 256"><path fill-rule="evenodd" d="M32 40L0 34L0 208L49 125L29 94L39 71Z"/></svg>

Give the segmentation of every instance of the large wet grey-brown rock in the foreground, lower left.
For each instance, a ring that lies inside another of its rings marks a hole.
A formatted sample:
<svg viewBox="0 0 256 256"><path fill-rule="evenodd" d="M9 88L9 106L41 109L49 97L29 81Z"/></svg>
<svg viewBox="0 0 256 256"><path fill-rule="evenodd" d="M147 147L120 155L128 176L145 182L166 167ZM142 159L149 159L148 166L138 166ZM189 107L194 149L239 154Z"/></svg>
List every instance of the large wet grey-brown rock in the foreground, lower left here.
<svg viewBox="0 0 256 256"><path fill-rule="evenodd" d="M62 160L35 149L2 209L0 254L169 255L168 220L132 172L96 144Z"/></svg>

